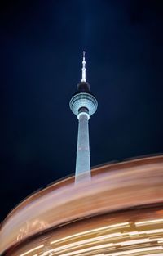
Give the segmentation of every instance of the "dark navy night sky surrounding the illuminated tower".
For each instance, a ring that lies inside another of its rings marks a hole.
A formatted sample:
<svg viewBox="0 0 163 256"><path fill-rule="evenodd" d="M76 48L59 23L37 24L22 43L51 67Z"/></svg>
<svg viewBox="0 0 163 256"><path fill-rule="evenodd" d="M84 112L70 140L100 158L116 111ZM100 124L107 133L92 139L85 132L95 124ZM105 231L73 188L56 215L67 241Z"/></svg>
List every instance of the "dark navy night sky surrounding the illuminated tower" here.
<svg viewBox="0 0 163 256"><path fill-rule="evenodd" d="M163 151L163 1L4 1L1 10L0 219L74 172L86 76L91 165Z"/></svg>

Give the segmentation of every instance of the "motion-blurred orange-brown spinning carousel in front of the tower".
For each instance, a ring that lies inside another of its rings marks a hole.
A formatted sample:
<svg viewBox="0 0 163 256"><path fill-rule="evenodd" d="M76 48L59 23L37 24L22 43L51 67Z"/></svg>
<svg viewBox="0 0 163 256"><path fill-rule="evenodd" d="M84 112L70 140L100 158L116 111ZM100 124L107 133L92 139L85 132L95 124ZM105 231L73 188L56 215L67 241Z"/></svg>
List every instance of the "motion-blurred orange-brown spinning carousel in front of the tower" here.
<svg viewBox="0 0 163 256"><path fill-rule="evenodd" d="M2 222L0 254L163 255L163 156L106 164L29 196Z"/></svg>

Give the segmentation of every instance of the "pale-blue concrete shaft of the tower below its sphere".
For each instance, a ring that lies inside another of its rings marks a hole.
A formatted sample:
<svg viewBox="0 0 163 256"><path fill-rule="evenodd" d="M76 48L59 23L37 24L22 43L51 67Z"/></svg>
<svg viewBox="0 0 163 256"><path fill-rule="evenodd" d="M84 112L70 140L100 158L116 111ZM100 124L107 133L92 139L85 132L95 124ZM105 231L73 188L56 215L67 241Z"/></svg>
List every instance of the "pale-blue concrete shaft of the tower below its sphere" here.
<svg viewBox="0 0 163 256"><path fill-rule="evenodd" d="M90 143L89 143L89 115L81 112L78 115L77 159L75 182L90 181Z"/></svg>

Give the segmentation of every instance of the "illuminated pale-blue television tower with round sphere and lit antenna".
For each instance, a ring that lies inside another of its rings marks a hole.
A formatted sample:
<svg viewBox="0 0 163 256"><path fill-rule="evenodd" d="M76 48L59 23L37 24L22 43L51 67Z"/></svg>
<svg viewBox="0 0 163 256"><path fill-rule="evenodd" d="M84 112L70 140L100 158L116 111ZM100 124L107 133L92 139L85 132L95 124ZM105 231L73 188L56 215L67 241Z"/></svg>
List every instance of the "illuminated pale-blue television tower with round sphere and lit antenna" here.
<svg viewBox="0 0 163 256"><path fill-rule="evenodd" d="M97 110L98 102L90 92L90 85L86 83L86 61L85 52L82 60L82 78L81 83L77 84L77 92L69 102L70 109L78 119L77 136L77 159L75 182L81 180L90 181L90 142L88 120Z"/></svg>

